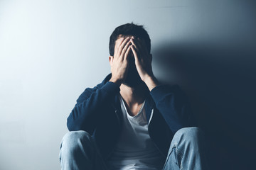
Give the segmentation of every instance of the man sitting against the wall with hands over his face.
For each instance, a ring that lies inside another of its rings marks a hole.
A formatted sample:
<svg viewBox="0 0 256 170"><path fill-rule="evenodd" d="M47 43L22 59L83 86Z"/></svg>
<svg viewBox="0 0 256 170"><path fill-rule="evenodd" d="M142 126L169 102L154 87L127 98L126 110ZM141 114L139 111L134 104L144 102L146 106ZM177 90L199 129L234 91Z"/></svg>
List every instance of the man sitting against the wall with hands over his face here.
<svg viewBox="0 0 256 170"><path fill-rule="evenodd" d="M111 73L68 116L62 169L207 169L203 132L178 85L152 72L150 38L127 23L110 36Z"/></svg>

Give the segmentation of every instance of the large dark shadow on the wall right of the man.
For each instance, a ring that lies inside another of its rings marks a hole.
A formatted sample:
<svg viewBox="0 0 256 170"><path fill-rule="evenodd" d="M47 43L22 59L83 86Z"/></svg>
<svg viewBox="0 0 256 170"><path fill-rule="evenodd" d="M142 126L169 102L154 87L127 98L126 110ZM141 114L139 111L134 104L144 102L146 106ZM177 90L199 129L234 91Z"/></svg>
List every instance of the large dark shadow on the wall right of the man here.
<svg viewBox="0 0 256 170"><path fill-rule="evenodd" d="M251 169L255 156L256 47L225 43L159 45L160 81L181 85L206 132L212 169ZM174 75L174 77L173 77Z"/></svg>

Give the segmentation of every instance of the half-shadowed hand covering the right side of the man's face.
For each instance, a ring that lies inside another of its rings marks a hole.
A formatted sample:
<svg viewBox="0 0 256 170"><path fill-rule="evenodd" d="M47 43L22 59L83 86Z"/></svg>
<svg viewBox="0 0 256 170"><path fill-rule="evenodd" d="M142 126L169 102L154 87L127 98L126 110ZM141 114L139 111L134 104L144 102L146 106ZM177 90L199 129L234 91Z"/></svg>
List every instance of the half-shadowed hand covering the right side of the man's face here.
<svg viewBox="0 0 256 170"><path fill-rule="evenodd" d="M159 85L159 81L154 77L152 71L152 55L149 54L144 40L132 37L131 42L132 52L134 54L135 65L139 73L139 77L141 77L142 81L145 82L146 86L148 86L151 91L151 89Z"/></svg>

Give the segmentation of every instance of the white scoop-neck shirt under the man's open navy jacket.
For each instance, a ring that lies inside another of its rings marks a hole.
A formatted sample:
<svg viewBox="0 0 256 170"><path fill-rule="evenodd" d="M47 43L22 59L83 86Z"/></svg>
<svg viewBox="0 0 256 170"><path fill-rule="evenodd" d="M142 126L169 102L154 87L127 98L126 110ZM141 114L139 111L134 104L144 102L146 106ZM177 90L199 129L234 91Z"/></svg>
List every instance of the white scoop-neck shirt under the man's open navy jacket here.
<svg viewBox="0 0 256 170"><path fill-rule="evenodd" d="M122 96L119 95L124 123L114 152L107 159L110 169L163 169L163 156L149 137L144 103L137 115L127 112ZM151 112L151 114L153 114Z"/></svg>

